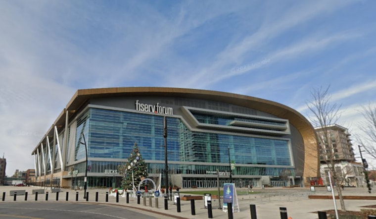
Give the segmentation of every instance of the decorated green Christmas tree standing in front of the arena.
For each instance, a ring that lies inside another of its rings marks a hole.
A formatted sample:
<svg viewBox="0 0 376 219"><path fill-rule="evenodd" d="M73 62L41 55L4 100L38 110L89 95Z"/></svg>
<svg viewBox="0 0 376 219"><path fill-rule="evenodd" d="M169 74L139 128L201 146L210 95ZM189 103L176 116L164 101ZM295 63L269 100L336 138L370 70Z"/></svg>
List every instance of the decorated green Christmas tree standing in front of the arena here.
<svg viewBox="0 0 376 219"><path fill-rule="evenodd" d="M131 155L128 157L128 162L126 164L118 165L118 170L120 174L124 174L121 182L121 187L123 189L133 190L134 186L137 189L141 180L147 178L147 167L142 159L137 143L133 146Z"/></svg>

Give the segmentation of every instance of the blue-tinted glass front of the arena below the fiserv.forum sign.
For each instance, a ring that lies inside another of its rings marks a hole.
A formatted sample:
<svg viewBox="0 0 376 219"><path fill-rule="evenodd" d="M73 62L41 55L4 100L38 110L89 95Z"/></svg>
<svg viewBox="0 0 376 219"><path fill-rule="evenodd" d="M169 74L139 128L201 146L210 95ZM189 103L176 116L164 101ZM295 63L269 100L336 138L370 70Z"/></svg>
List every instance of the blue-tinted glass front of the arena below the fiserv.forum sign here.
<svg viewBox="0 0 376 219"><path fill-rule="evenodd" d="M205 115L200 114L204 119ZM210 115L211 116L211 115ZM207 121L206 116L206 121ZM211 118L221 121L222 118ZM226 121L223 121L224 124ZM167 117L167 150L169 162L203 162L169 164L174 173L204 174L205 171L228 171L229 158L236 164L279 165L283 167L236 166L234 174L279 175L291 168L289 141L219 133L192 132L179 119ZM127 159L138 144L145 160L164 161L163 116L126 111L90 108L77 121L75 160L85 158L82 134L88 145L88 157ZM215 165L213 165L213 163ZM118 163L108 163L116 169ZM106 164L107 165L107 164ZM98 166L98 167L97 167ZM91 172L103 172L102 164L92 163ZM149 173L158 173L164 164L148 164ZM292 169L292 168L291 168Z"/></svg>

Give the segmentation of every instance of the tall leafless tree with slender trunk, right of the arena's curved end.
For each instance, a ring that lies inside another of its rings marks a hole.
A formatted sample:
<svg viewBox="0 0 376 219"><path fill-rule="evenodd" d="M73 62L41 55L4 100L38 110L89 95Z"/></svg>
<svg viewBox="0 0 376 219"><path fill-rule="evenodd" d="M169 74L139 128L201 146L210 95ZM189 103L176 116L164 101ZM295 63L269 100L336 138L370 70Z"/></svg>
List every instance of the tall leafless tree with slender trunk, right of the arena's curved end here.
<svg viewBox="0 0 376 219"><path fill-rule="evenodd" d="M336 164L340 161L336 157L336 151L332 141L330 125L335 124L339 118L340 105L333 104L330 102L329 86L327 88L320 87L319 89L314 89L311 92L311 100L307 103L307 107L313 113L310 117L312 124L321 130L317 134L319 144L321 147L321 156L325 156L322 162L324 162L331 173L334 183L336 184L336 190L338 193L339 201L341 204L342 211L346 211L345 202L343 200L342 191L340 188L343 182L342 172L336 170ZM319 146L318 146L319 147Z"/></svg>

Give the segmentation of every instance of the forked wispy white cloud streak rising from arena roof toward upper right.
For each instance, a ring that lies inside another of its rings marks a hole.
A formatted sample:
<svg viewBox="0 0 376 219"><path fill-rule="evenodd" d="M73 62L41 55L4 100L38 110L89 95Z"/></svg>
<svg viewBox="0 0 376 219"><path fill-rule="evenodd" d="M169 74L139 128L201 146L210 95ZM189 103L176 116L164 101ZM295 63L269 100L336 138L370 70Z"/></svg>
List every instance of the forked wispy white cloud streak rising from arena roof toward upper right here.
<svg viewBox="0 0 376 219"><path fill-rule="evenodd" d="M312 4L304 3L291 8L289 11L282 14L281 17L278 17L277 20L264 24L255 33L245 37L240 43L229 45L229 47L217 55L216 60L211 65L203 67L200 71L192 75L192 77L189 77L188 80L185 79L183 86L197 87L197 84L199 84L198 87L207 87L226 78L246 73L255 68L260 68L265 64L271 64L280 58L301 55L299 53L304 51L310 52L319 50L320 48L323 48L336 40L344 40L357 36L334 34L331 37L324 37L323 39L318 38L302 41L298 45L293 45L287 49L282 49L274 53L272 52L272 55L267 55L264 59L271 60L267 63L250 66L248 71L246 71L246 69L243 71L231 71L231 69L236 68L234 67L234 64L241 62L240 60L243 59L242 57L247 52L253 51L254 48L259 48L261 45L268 43L271 39L280 36L292 27L302 24L307 20L313 19L316 16L323 16L323 14L339 9L341 6L347 5L348 3L349 2L344 1L333 1L329 4L314 2ZM292 13L292 11L294 11L294 13ZM251 61L250 63L258 62L260 61Z"/></svg>

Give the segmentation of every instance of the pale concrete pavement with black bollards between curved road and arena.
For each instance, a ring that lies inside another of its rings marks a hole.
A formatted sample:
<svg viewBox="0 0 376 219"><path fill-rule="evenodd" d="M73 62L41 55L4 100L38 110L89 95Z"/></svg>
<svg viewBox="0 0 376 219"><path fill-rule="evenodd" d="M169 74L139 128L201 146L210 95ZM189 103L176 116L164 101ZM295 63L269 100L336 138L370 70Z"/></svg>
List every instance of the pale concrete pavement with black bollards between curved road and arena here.
<svg viewBox="0 0 376 219"><path fill-rule="evenodd" d="M32 194L33 187L15 187L15 186L0 186L0 196L5 192L4 202L13 202L14 197L10 196L10 190L26 190L28 192L28 201L34 202L35 195ZM181 197L193 189L181 189ZM197 189L194 189L197 190ZM141 198L140 204L137 204L137 198L130 197L129 203L126 203L125 197L119 197L119 202L116 202L116 197L108 196L108 202L105 202L106 192L108 189L88 189L89 200L84 199L84 190L61 189L59 193L59 202L66 202L66 192L68 192L68 202L76 202L76 192L78 192L78 201L80 203L101 203L118 206L121 208L129 208L134 211L148 212L151 215L159 215L163 219L205 219L208 218L208 210L204 208L204 200L195 201L195 215L191 215L190 201L181 201L181 212L177 212L177 206L172 201L168 201L168 210L164 209L164 199L158 198L158 208L155 206L155 198L151 199L151 206L149 207L149 199L146 198L145 205ZM308 199L308 195L331 195L326 188L316 188L315 192L311 192L310 188L254 188L254 193L246 195L246 189L237 189L238 203L240 212L234 213L234 219L250 219L250 204L256 206L256 213L258 219L275 219L280 218L280 207L287 208L287 215L292 219L317 219L317 211L326 211L334 209L332 199ZM56 202L56 193L51 193L50 189L45 190L45 194L38 195L38 201L46 201L46 192L48 192L48 201ZM95 193L98 192L98 202L95 202ZM260 192L260 193L259 193ZM376 192L373 190L373 192ZM217 194L213 191L212 195ZM335 192L336 194L336 192ZM343 195L359 195L359 196L376 196L370 194L367 188L345 188ZM25 202L25 196L17 196L17 202ZM222 204L222 201L221 201ZM364 206L376 205L375 200L345 200L346 209L349 211L360 211ZM340 210L339 201L336 200L336 206ZM215 219L228 219L228 213L219 209L218 199L212 199L212 215ZM158 217L158 216L157 216Z"/></svg>

